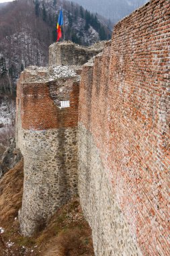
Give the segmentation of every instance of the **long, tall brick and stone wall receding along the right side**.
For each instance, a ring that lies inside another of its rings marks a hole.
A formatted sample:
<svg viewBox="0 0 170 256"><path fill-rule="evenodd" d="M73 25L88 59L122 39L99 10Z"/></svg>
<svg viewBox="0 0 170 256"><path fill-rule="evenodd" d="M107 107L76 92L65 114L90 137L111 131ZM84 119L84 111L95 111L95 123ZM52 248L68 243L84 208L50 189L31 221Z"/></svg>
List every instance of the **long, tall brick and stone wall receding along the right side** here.
<svg viewBox="0 0 170 256"><path fill-rule="evenodd" d="M83 67L79 195L98 256L170 254L169 9L134 11Z"/></svg>

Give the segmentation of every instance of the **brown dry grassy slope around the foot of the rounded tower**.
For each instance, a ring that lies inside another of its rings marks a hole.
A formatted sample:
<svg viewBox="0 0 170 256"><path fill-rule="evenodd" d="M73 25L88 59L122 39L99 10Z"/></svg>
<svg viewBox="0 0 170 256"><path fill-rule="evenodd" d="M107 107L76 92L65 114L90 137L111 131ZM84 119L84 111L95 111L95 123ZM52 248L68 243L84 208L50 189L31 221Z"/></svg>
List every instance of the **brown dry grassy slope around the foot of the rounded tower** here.
<svg viewBox="0 0 170 256"><path fill-rule="evenodd" d="M78 198L61 207L42 232L32 238L19 234L15 217L22 205L23 180L23 161L0 180L0 227L5 229L0 236L0 256L93 256L91 229Z"/></svg>

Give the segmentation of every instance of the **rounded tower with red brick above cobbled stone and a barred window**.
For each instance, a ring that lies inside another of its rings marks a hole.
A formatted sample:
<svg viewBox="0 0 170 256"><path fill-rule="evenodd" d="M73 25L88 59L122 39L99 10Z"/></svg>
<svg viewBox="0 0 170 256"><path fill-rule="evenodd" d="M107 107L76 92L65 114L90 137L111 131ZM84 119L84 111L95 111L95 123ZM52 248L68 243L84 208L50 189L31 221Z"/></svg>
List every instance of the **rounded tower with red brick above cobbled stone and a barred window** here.
<svg viewBox="0 0 170 256"><path fill-rule="evenodd" d="M24 156L19 223L25 236L77 194L77 77L51 82L30 77L24 71L17 85L16 137ZM70 108L59 108L60 100L70 100Z"/></svg>

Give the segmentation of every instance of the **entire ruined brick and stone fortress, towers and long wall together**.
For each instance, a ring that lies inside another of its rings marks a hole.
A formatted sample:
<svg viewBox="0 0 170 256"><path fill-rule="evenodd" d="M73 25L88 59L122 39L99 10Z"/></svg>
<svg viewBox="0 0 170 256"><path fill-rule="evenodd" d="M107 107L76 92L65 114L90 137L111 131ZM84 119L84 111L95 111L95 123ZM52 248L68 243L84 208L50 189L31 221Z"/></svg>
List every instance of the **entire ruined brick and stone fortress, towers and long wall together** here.
<svg viewBox="0 0 170 256"><path fill-rule="evenodd" d="M151 0L91 47L89 62L90 49L61 42L50 67L22 72L24 235L78 192L95 255L170 255L169 20L169 0Z"/></svg>

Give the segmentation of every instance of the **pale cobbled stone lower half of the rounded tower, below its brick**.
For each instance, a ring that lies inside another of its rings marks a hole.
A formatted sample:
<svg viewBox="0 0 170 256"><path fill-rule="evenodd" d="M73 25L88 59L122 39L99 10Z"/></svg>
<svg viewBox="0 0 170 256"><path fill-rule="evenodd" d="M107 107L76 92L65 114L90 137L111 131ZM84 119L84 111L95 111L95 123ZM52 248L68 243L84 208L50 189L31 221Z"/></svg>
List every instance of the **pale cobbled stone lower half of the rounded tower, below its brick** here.
<svg viewBox="0 0 170 256"><path fill-rule="evenodd" d="M77 194L77 127L23 130L22 234L44 227L58 207Z"/></svg>

